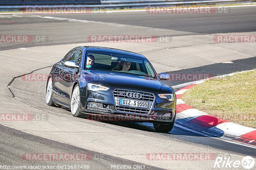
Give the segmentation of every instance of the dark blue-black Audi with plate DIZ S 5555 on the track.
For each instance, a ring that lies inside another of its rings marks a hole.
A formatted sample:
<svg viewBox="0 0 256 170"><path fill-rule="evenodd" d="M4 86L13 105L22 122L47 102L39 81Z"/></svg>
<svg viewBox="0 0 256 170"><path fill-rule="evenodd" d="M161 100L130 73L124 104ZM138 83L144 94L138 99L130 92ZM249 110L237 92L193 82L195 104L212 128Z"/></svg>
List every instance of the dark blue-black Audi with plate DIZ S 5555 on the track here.
<svg viewBox="0 0 256 170"><path fill-rule="evenodd" d="M141 54L78 46L53 65L46 103L69 108L75 117L150 122L169 132L176 117L176 95L162 81L169 79Z"/></svg>

